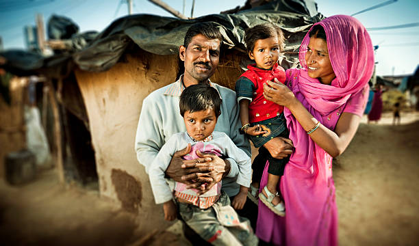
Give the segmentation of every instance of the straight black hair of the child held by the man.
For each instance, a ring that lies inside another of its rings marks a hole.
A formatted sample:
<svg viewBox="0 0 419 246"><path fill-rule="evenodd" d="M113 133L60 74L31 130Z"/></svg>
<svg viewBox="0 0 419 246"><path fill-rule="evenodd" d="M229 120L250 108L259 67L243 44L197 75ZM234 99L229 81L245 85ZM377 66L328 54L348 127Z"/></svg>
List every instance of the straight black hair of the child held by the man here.
<svg viewBox="0 0 419 246"><path fill-rule="evenodd" d="M190 85L183 90L179 108L183 117L186 111L190 113L207 109L214 109L216 117L221 114L221 98L217 90L210 85L199 83Z"/></svg>

